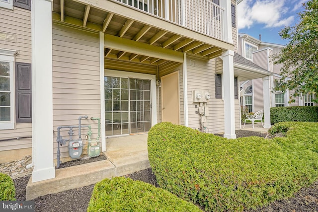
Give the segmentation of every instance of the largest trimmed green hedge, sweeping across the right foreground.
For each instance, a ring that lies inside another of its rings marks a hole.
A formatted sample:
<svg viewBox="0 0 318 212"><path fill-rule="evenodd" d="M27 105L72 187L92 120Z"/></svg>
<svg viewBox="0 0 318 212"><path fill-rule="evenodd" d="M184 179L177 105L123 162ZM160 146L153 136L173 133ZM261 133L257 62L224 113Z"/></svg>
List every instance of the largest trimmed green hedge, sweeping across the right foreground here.
<svg viewBox="0 0 318 212"><path fill-rule="evenodd" d="M318 124L280 125L285 138L229 140L159 123L148 134L150 164L161 188L206 211L263 206L318 177Z"/></svg>

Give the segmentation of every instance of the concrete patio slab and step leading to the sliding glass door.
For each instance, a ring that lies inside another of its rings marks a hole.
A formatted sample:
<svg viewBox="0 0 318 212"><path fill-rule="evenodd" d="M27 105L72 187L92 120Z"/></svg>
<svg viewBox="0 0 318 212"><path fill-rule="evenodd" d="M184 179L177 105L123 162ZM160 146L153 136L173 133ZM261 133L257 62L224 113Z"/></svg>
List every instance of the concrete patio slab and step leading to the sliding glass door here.
<svg viewBox="0 0 318 212"><path fill-rule="evenodd" d="M26 186L26 200L149 168L147 137L148 134L143 134L106 139L106 160L56 169L55 178L35 183L31 176Z"/></svg>

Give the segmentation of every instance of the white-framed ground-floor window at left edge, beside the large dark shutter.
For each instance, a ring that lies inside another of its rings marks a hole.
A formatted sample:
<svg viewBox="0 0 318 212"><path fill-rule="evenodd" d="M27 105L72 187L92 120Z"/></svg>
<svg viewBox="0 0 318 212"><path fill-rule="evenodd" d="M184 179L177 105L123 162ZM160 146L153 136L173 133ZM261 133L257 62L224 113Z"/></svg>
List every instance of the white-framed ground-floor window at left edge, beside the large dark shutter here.
<svg viewBox="0 0 318 212"><path fill-rule="evenodd" d="M14 54L0 49L0 130L14 128Z"/></svg>

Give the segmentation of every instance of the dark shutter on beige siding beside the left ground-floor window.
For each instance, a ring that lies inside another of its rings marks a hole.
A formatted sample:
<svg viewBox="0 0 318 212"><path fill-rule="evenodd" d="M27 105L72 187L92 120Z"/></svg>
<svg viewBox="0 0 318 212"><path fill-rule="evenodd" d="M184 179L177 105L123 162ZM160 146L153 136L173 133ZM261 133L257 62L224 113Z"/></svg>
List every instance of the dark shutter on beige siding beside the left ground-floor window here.
<svg viewBox="0 0 318 212"><path fill-rule="evenodd" d="M15 63L15 121L32 121L31 64Z"/></svg>

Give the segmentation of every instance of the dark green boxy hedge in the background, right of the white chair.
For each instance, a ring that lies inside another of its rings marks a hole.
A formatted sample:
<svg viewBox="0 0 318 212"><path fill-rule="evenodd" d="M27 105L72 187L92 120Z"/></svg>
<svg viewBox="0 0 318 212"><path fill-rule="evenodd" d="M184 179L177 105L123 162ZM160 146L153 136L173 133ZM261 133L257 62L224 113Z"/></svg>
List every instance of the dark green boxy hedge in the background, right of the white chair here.
<svg viewBox="0 0 318 212"><path fill-rule="evenodd" d="M318 122L318 106L272 107L270 122Z"/></svg>

